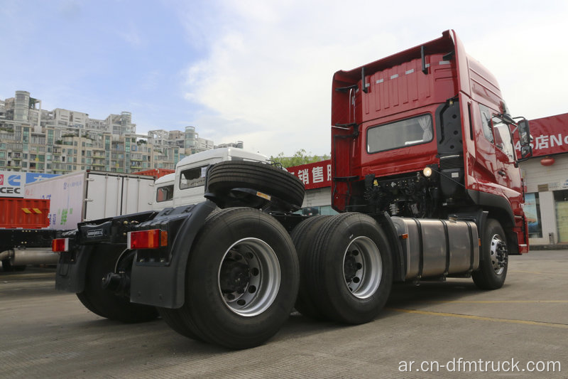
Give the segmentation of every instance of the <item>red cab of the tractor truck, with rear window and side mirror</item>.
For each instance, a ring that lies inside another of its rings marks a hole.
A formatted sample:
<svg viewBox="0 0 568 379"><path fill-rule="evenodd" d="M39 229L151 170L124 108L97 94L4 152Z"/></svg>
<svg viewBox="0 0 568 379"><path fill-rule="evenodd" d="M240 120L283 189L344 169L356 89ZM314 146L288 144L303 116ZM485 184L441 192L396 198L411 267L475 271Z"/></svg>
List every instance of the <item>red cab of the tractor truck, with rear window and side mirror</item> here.
<svg viewBox="0 0 568 379"><path fill-rule="evenodd" d="M522 119L522 117L521 117ZM517 156L512 132L525 133ZM510 254L528 252L518 161L528 122L454 31L349 71L332 84L332 204L413 218L486 211Z"/></svg>

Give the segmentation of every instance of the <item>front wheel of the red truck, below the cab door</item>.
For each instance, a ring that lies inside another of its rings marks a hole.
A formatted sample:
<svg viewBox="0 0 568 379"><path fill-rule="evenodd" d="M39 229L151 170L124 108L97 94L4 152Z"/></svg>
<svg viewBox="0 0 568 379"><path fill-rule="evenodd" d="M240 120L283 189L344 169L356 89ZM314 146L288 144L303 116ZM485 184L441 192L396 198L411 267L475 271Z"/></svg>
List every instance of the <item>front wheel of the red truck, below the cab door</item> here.
<svg viewBox="0 0 568 379"><path fill-rule="evenodd" d="M503 287L508 268L507 239L501 224L488 218L481 235L481 262L479 270L471 273L474 283L481 289Z"/></svg>

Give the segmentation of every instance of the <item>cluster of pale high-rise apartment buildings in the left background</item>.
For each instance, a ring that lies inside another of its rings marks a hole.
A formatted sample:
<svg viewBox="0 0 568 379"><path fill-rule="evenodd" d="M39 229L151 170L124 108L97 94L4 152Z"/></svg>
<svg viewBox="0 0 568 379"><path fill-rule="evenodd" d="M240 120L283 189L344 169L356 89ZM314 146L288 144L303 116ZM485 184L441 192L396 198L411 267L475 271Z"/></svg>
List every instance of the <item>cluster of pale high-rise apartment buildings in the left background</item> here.
<svg viewBox="0 0 568 379"><path fill-rule="evenodd" d="M130 112L42 110L30 92L0 102L0 170L65 174L90 169L130 173L174 169L180 148L168 138L136 134Z"/></svg>

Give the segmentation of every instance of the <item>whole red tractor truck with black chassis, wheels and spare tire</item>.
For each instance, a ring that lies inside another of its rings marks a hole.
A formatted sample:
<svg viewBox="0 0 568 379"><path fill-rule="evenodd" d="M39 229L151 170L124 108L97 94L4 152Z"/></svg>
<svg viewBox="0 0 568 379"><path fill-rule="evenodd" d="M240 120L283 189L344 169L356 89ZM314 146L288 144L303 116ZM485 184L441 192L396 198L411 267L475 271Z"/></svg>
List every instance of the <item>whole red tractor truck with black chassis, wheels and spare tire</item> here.
<svg viewBox="0 0 568 379"><path fill-rule="evenodd" d="M304 188L278 165L220 162L202 203L80 223L54 240L56 287L99 316L160 315L184 336L249 348L293 307L371 321L393 282L473 277L498 289L508 255L528 252L528 122L510 117L454 31L335 73L331 132L339 215L294 214ZM175 190L192 179L176 175Z"/></svg>

